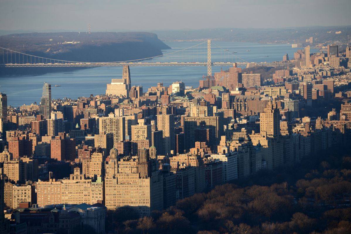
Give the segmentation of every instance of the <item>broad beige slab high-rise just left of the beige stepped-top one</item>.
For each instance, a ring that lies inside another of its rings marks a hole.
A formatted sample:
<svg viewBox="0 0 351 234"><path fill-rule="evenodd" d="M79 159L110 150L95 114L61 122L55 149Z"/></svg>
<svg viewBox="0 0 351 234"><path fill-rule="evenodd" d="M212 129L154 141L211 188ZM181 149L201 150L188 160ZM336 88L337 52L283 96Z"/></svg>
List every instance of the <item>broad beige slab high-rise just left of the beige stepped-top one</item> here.
<svg viewBox="0 0 351 234"><path fill-rule="evenodd" d="M126 136L125 117L115 117L110 113L108 117L99 118L99 131L106 133L113 133L113 143L125 140Z"/></svg>

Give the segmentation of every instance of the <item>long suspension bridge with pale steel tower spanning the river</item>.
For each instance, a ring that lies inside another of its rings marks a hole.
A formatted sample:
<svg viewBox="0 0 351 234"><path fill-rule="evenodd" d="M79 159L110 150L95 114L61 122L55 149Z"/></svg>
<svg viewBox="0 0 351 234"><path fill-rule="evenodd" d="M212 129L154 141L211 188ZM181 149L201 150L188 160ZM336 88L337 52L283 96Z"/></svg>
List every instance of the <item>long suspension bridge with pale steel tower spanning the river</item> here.
<svg viewBox="0 0 351 234"><path fill-rule="evenodd" d="M246 67L294 66L294 63L290 62L248 62L236 56L234 54L235 52L230 52L228 49L222 48L213 42L212 44L214 45L214 48L219 50L217 51L217 54L219 55L220 53L220 57L217 57L214 61L211 59L211 40L163 55L118 62L77 62L58 60L54 58L30 55L11 50L9 48L0 47L0 50L2 49L2 56L0 56L0 67L118 67L126 64L129 66L207 66L207 75L211 76L212 66L231 66L233 63L237 63L238 66ZM205 51L206 48L207 51Z"/></svg>

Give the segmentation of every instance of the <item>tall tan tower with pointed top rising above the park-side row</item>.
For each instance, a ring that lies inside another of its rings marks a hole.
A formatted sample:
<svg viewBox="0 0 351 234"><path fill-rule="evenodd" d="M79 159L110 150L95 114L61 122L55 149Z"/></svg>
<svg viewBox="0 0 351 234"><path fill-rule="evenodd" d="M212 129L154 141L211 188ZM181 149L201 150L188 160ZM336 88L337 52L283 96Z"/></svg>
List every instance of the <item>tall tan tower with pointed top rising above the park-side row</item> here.
<svg viewBox="0 0 351 234"><path fill-rule="evenodd" d="M280 132L280 114L273 103L267 103L264 112L260 113L260 132L267 133L267 137L278 137Z"/></svg>

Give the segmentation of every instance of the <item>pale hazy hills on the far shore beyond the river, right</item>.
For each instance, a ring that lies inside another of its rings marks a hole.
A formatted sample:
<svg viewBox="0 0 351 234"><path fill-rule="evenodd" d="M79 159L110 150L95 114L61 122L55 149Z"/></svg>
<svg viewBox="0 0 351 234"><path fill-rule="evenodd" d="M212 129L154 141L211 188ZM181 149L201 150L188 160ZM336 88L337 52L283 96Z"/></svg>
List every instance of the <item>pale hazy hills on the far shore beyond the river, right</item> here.
<svg viewBox="0 0 351 234"><path fill-rule="evenodd" d="M234 24L235 26L235 24ZM313 26L294 28L208 28L199 30L154 31L162 40L213 39L234 42L304 43L311 36L316 43L347 43L351 26ZM336 32L340 32L336 34ZM341 44L340 43L340 44Z"/></svg>

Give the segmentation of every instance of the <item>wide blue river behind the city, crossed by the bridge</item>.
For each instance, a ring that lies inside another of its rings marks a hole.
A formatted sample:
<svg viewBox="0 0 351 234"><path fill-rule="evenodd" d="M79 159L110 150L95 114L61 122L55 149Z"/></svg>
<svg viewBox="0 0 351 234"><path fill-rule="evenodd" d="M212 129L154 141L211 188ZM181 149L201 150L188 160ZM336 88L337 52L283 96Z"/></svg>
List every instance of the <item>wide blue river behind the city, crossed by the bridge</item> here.
<svg viewBox="0 0 351 234"><path fill-rule="evenodd" d="M164 50L163 54L171 53L180 49L194 46L200 42L166 42L172 49ZM224 51L215 46L228 50ZM257 44L244 42L212 42L212 62L235 62L238 56L248 62L273 62L283 59L284 54L290 58L294 52L301 48L291 48L291 44ZM152 61L163 62L205 62L207 59L207 43L201 47L185 50L181 53L155 58ZM246 51L250 50L250 51ZM237 51L237 53L232 53ZM317 50L311 49L311 53ZM225 56L224 56L225 54ZM235 55L235 56L234 56ZM239 59L238 59L239 62ZM232 65L231 65L232 66ZM223 67L223 69L228 69ZM40 68L38 68L40 69ZM221 67L212 66L212 75L219 72ZM186 86L198 87L199 80L207 75L205 66L150 66L130 67L132 85L142 85L146 92L158 82L170 85L174 81L183 81ZM52 85L52 98L73 98L90 96L90 94L105 94L106 84L111 83L112 78L122 76L121 67L98 67L69 72L48 73L37 76L1 76L0 91L7 95L7 104L18 107L33 102L39 104L42 93L42 85L48 82ZM55 84L61 87L55 87Z"/></svg>

